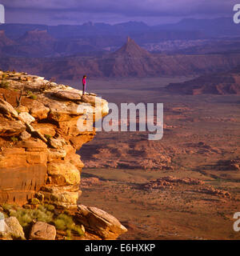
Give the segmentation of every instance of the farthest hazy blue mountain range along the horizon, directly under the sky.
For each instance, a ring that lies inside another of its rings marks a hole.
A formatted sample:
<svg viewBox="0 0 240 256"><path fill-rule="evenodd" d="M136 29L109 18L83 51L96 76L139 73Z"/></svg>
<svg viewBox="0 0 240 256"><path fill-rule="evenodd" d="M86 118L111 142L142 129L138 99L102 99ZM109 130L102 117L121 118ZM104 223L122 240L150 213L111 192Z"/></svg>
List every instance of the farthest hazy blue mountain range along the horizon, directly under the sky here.
<svg viewBox="0 0 240 256"><path fill-rule="evenodd" d="M179 32L192 32L185 34L189 37L224 37L237 36L240 32L240 26L233 22L232 18L215 18L215 19L194 19L185 18L174 24L164 24L159 26L148 26L144 22L124 22L115 25L107 23L86 22L82 25L58 25L47 26L38 24L2 24L1 30L6 31L6 36L17 39L30 30L46 30L54 38L89 38L98 36L120 36L130 35L138 38L144 38L150 34L164 34L170 38L182 38ZM170 31L176 34L170 34ZM196 34L196 31L198 34ZM140 34L143 34L142 37ZM134 38L136 39L136 38ZM146 38L145 38L146 39ZM138 42L140 43L140 42Z"/></svg>

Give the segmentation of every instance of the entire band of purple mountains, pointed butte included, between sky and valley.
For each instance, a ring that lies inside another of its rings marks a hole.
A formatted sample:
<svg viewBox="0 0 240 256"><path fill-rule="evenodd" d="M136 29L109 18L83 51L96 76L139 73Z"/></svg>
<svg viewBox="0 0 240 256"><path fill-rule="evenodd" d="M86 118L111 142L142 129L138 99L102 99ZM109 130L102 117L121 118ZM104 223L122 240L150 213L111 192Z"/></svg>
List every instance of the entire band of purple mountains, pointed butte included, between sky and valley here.
<svg viewBox="0 0 240 256"><path fill-rule="evenodd" d="M239 32L240 26L231 18L184 19L161 26L143 22L2 24L0 68L57 79L77 79L82 74L158 77L219 73L240 65ZM151 52L146 50L149 48Z"/></svg>

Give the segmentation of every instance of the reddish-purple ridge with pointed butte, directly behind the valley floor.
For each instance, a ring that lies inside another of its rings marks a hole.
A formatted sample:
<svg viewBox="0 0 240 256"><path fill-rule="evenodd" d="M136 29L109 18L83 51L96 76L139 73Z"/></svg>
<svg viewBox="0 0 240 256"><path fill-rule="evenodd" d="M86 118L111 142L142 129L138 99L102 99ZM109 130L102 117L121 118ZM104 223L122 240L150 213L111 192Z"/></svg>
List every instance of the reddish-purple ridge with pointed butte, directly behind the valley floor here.
<svg viewBox="0 0 240 256"><path fill-rule="evenodd" d="M42 33L44 34L44 33ZM25 42L36 34L30 33L22 38ZM38 46L33 43L33 47ZM54 42L54 41L50 41ZM240 65L240 54L201 54L167 55L151 54L138 46L133 39L114 53L101 56L69 56L53 58L0 58L2 70L26 71L46 78L79 79L82 74L88 77L159 77L173 75L196 75L211 72L223 72Z"/></svg>

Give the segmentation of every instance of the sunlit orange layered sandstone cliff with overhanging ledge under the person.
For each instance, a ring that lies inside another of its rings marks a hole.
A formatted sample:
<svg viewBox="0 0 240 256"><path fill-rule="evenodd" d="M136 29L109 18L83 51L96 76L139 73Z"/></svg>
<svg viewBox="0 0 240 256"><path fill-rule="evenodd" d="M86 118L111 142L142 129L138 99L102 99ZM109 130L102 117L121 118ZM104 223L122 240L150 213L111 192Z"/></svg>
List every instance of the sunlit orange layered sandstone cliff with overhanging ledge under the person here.
<svg viewBox="0 0 240 256"><path fill-rule="evenodd" d="M23 205L37 197L75 207L83 166L76 150L95 134L94 128L84 131L84 120L106 114L106 100L95 94L82 97L70 86L1 71L0 203Z"/></svg>

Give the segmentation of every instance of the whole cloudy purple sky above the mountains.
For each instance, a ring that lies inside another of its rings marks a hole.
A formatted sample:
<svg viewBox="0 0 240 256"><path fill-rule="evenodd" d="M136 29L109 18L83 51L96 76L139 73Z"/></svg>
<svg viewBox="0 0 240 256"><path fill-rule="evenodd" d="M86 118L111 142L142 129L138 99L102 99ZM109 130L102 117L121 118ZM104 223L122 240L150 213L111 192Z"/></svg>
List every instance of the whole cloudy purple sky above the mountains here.
<svg viewBox="0 0 240 256"><path fill-rule="evenodd" d="M240 0L0 0L7 23L47 25L142 21L149 25L182 18L233 15Z"/></svg>

